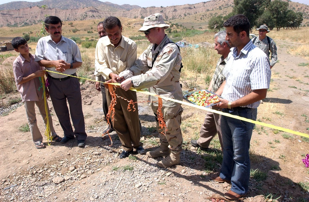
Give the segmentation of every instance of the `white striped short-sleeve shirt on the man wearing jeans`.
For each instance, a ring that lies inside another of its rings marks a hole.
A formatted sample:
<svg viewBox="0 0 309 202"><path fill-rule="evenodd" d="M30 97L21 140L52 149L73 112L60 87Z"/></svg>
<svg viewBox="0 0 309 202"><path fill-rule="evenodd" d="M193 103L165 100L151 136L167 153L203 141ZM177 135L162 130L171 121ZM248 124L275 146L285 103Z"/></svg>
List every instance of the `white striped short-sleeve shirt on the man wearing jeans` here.
<svg viewBox="0 0 309 202"><path fill-rule="evenodd" d="M270 84L270 63L267 55L250 40L237 55L237 48L231 48L224 75L226 84L222 97L230 102L248 95L256 89L268 89ZM242 107L257 108L260 102Z"/></svg>

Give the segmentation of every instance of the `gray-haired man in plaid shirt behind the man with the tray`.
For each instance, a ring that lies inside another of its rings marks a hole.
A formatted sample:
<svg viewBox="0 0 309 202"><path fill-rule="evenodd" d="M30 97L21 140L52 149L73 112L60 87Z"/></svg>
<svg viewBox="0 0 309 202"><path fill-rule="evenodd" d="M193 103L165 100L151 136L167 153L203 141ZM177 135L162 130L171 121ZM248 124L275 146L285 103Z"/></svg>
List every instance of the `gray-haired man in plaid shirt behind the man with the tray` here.
<svg viewBox="0 0 309 202"><path fill-rule="evenodd" d="M222 74L222 71L228 60L227 56L230 53L230 46L225 39L226 31L220 31L214 35L215 46L214 49L217 50L218 54L222 55L217 62L217 67L214 72L214 77L211 79L208 90L211 92L216 92L225 80L225 76ZM222 108L212 106L214 110L222 111ZM208 150L210 141L218 133L220 145L223 149L222 144L222 134L220 129L220 119L221 115L215 114L212 112L207 112L204 120L204 124L200 130L200 138L198 140L191 140L193 147L200 147L201 150Z"/></svg>

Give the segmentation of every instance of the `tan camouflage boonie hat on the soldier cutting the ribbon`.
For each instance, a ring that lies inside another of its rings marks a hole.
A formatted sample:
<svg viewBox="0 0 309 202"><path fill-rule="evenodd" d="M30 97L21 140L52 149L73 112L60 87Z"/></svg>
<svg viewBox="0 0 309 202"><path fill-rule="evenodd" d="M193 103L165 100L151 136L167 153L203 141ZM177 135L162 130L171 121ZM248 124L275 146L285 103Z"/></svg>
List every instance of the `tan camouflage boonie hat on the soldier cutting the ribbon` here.
<svg viewBox="0 0 309 202"><path fill-rule="evenodd" d="M165 24L163 16L161 14L155 13L144 18L143 26L138 31L144 32L153 27L164 27L164 29L167 29L169 25Z"/></svg>

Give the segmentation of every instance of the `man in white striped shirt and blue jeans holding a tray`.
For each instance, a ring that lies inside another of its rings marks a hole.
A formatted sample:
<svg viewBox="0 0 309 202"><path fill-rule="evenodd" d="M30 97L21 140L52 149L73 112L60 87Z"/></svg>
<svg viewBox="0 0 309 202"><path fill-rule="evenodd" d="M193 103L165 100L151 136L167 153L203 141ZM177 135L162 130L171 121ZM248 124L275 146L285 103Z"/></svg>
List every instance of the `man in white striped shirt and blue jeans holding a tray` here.
<svg viewBox="0 0 309 202"><path fill-rule="evenodd" d="M232 48L223 73L226 80L216 92L223 97L217 107L223 108L223 112L256 120L257 107L269 88L269 59L250 40L250 22L246 16L234 15L224 22L224 27ZM248 192L253 127L253 123L239 119L221 118L223 162L220 176L211 179L231 182L231 190L224 194L227 199L237 200Z"/></svg>

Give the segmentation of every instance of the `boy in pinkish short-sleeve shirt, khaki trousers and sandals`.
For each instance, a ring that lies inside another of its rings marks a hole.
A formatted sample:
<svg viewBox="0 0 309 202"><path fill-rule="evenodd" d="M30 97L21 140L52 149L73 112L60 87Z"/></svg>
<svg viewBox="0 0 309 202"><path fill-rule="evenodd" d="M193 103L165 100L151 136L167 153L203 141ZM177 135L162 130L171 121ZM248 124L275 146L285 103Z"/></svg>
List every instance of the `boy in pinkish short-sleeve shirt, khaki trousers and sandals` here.
<svg viewBox="0 0 309 202"><path fill-rule="evenodd" d="M12 39L12 46L19 56L13 63L13 73L17 90L21 95L21 99L25 104L26 115L28 118L29 128L32 135L33 142L37 149L45 148L43 136L36 123L36 112L34 105L39 108L40 114L44 120L46 127L46 113L45 113L45 100L43 95L43 87L40 82L40 77L45 75L44 67L40 67L38 63L34 61L34 55L29 53L29 47L27 41L22 37L15 37ZM48 91L46 88L48 97ZM47 104L47 103L46 103ZM47 108L48 104L47 104ZM58 136L53 128L52 117L48 111L49 128L53 141L60 142L61 137Z"/></svg>

